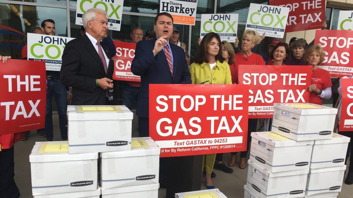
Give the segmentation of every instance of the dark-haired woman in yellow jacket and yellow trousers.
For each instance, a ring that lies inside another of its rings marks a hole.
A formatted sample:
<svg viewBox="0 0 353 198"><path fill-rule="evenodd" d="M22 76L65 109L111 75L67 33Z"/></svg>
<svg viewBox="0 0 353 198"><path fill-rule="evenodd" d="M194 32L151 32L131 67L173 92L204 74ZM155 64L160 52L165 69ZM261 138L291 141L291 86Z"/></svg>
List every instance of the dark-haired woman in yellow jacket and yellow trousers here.
<svg viewBox="0 0 353 198"><path fill-rule="evenodd" d="M192 84L232 84L229 65L222 57L221 38L217 33L210 32L201 41L195 62L190 65ZM206 179L208 189L214 188L211 179L216 154L203 157L202 171L206 160Z"/></svg>

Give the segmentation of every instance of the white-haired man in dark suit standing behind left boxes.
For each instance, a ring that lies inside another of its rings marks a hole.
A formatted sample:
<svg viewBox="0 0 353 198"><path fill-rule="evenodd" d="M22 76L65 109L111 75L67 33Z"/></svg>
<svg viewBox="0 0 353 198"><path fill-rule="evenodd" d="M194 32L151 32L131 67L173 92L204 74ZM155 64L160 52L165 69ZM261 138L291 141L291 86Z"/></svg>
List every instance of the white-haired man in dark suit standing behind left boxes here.
<svg viewBox="0 0 353 198"><path fill-rule="evenodd" d="M91 8L82 23L86 33L68 42L64 49L61 83L72 87L72 105L109 105L114 63L108 48L100 42L108 31L107 13Z"/></svg>

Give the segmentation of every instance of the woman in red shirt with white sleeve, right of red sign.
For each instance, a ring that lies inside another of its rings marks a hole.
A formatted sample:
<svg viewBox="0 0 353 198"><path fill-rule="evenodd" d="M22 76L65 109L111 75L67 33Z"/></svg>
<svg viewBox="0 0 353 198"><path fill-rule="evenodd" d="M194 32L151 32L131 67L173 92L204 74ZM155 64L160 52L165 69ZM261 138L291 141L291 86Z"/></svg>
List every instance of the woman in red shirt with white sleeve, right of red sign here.
<svg viewBox="0 0 353 198"><path fill-rule="evenodd" d="M312 66L311 85L308 88L309 102L317 105L322 105L322 99L330 99L332 95L330 73L318 68L320 63L324 61L324 55L325 52L319 44L307 49L304 55L304 60Z"/></svg>

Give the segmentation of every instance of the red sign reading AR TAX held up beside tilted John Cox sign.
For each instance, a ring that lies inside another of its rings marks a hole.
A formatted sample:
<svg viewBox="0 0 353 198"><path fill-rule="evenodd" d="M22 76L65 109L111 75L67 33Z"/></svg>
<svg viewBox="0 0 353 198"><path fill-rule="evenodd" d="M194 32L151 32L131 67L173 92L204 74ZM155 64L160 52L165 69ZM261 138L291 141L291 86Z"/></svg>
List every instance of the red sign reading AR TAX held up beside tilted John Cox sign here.
<svg viewBox="0 0 353 198"><path fill-rule="evenodd" d="M325 21L325 0L270 0L270 5L289 8L285 32L321 29Z"/></svg>

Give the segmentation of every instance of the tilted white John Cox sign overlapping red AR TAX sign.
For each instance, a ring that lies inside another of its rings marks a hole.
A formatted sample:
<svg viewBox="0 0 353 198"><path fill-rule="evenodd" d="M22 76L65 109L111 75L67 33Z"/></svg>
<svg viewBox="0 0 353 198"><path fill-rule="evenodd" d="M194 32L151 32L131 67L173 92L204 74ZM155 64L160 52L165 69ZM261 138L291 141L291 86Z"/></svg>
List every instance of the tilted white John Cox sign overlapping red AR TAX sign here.
<svg viewBox="0 0 353 198"><path fill-rule="evenodd" d="M255 30L259 35L266 32L266 36L283 38L288 14L287 7L250 4L245 29Z"/></svg>

